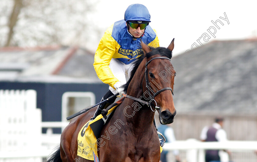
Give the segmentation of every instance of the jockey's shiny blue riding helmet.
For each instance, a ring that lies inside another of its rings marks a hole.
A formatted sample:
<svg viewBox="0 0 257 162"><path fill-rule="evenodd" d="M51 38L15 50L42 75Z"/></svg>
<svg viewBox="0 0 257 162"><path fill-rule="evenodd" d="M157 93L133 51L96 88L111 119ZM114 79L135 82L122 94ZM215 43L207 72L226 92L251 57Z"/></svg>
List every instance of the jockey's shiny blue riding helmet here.
<svg viewBox="0 0 257 162"><path fill-rule="evenodd" d="M141 4L132 4L128 6L125 11L124 20L127 21L138 21L141 23L149 23L150 21L150 13L146 6ZM141 21L141 22L140 22Z"/></svg>

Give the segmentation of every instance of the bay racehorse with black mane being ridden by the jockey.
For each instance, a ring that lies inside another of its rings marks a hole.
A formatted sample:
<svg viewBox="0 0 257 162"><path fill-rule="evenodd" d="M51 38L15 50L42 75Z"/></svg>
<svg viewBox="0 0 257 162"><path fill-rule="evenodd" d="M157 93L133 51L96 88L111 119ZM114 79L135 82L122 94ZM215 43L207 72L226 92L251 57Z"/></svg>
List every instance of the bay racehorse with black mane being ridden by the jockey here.
<svg viewBox="0 0 257 162"><path fill-rule="evenodd" d="M124 90L132 98L150 100L151 107L125 97L100 132L101 137L106 137L100 141L102 145L97 152L100 162L159 162L160 143L153 124L154 111L158 110L161 124L172 123L176 115L172 96L176 72L170 62L174 39L167 48L148 47L143 42L141 45L143 52L134 61ZM47 162L92 162L77 156L77 137L95 110L96 107L71 120L61 134L60 147Z"/></svg>

